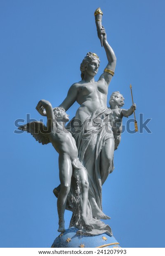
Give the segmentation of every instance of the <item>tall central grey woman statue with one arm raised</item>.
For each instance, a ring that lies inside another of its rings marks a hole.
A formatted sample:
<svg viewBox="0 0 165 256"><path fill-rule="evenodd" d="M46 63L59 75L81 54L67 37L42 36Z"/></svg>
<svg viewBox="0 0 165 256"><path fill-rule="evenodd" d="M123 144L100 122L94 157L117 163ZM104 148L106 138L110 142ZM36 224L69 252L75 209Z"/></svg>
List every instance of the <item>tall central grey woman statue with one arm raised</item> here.
<svg viewBox="0 0 165 256"><path fill-rule="evenodd" d="M106 56L108 59L108 64L106 66L106 69L104 70L104 73L100 76L98 81L94 81L94 76L97 74L99 69L100 60L96 54L92 52L88 52L87 56L83 59L80 65L82 80L79 81L78 83L74 83L71 86L71 88L68 90L68 95L66 96L66 99L60 104L60 106L64 107L64 109L66 110L69 109L75 101L77 101L80 104L80 107L78 108L75 114L74 123L76 123L77 119L79 119L82 123L85 123L85 120L86 121L88 120L86 122L88 125L88 133L89 133L89 129L93 130L93 128L95 128L92 126L89 127L89 122L94 119L101 119L104 122L105 126L102 126L101 127L102 129L106 129L106 125L108 125L107 123L108 120L105 121L106 119L108 119L108 114L109 114L109 110L107 109L108 85L111 82L112 76L115 71L115 66L116 66L116 57L111 46L107 42L104 28L101 29L101 33L103 35L103 46L106 51ZM93 115L92 119L91 119L91 115ZM74 123L73 123L73 128L74 128ZM84 129L86 129L86 127L84 127ZM77 137L83 136L84 135L83 133L82 134L72 133L73 137L75 138L75 141L77 142L79 159L80 161L83 161L83 164L85 165L85 168L88 171L88 179L89 179L90 185L96 182L96 180L92 180L93 177L91 176L93 176L94 162L99 158L99 161L95 163L99 165L99 169L100 169L99 170L100 177L99 175L97 177L99 179L101 178L101 184L98 185L99 191L97 191L99 193L101 190L101 185L103 185L103 183L105 182L106 178L108 177L108 174L113 171L114 138L113 138L113 133L111 133L110 129L111 128L104 131L104 133L107 133L107 134L104 134L103 131L102 131L103 133L102 135L97 134L96 136L96 134L93 134L91 141L90 141L90 135L89 135L88 136L89 145L87 147L84 145L83 142L81 143L78 142L78 140L80 139L78 139ZM94 149L94 144L96 143L94 139L98 143L102 144L100 145L98 152L96 152L96 150ZM96 156L96 154L98 154L98 156ZM96 168L98 168L98 166ZM92 172L90 171L91 169L92 169ZM96 173L94 175L96 175ZM100 183L100 180L99 180L99 183ZM94 184L94 187L95 187L95 184ZM90 189L92 189L91 186L90 186ZM92 194L93 194L93 191L91 191L91 194L89 193L90 203L92 205L92 208L94 206L93 208L94 210L92 211L93 217L103 218L103 219L107 218L107 216L105 216L105 214L102 213L102 210L101 210L102 209L101 198L98 198L98 195L96 195L97 198L95 198Z"/></svg>

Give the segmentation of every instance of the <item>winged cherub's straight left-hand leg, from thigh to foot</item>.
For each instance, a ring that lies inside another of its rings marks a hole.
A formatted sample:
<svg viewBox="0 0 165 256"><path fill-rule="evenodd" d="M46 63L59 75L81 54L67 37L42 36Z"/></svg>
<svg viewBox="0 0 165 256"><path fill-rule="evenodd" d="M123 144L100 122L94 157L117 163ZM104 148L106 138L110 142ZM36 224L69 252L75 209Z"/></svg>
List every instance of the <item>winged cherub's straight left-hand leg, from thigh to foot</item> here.
<svg viewBox="0 0 165 256"><path fill-rule="evenodd" d="M65 231L64 212L66 208L66 199L70 191L72 176L72 164L67 155L59 155L59 179L61 189L57 199L57 210L59 215L59 232Z"/></svg>

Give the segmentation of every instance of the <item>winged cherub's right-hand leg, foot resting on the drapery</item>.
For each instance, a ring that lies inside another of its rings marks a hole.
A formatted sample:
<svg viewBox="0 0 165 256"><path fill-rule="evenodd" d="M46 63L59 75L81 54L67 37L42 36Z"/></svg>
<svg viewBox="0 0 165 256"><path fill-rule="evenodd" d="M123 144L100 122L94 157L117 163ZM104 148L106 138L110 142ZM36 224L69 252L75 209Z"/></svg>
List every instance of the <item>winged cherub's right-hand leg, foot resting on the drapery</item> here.
<svg viewBox="0 0 165 256"><path fill-rule="evenodd" d="M88 203L88 190L89 183L87 178L87 171L85 168L81 168L79 170L73 169L73 177L77 180L79 177L79 186L80 186L80 211L81 211L81 221L82 225L89 231L91 231L94 227L89 224L87 220L87 203Z"/></svg>

